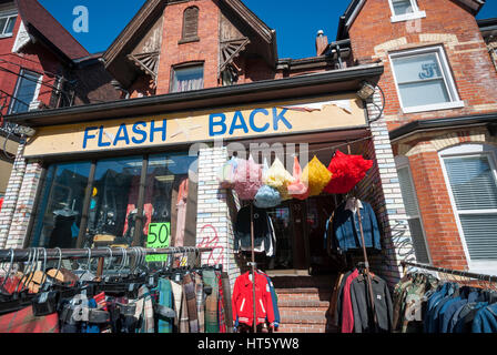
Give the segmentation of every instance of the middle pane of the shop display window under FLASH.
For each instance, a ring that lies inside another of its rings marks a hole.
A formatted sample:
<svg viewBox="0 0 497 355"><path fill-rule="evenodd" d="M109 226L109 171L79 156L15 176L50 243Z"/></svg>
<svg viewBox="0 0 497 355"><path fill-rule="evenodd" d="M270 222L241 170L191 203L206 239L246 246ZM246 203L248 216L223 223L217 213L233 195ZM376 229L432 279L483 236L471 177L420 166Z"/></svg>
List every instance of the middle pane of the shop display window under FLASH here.
<svg viewBox="0 0 497 355"><path fill-rule="evenodd" d="M142 163L141 156L109 159L97 163L88 244L131 245Z"/></svg>

